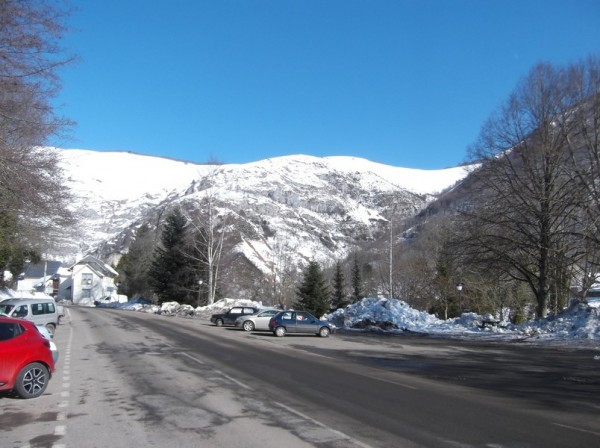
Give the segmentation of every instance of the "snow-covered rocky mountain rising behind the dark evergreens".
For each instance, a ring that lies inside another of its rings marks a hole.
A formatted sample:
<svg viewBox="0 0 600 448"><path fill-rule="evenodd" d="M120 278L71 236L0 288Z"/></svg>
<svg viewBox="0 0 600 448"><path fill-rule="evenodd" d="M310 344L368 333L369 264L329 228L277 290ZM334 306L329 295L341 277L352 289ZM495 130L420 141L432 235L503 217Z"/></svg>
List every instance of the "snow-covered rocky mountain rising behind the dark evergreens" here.
<svg viewBox="0 0 600 448"><path fill-rule="evenodd" d="M247 164L201 165L128 152L62 149L62 168L76 195L75 235L55 252L74 258L96 251L114 262L133 229L160 225L170 206L208 195L226 223L227 250L265 274L282 253L292 263L329 262L359 242L413 217L468 174L399 168L355 157L277 157ZM164 217L164 216L163 216Z"/></svg>

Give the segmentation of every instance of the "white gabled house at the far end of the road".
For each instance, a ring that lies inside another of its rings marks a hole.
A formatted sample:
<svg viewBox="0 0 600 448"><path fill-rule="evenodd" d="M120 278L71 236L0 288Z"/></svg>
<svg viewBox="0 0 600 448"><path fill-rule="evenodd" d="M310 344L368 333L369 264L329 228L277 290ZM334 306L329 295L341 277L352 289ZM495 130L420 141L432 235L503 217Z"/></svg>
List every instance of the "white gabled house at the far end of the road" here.
<svg viewBox="0 0 600 448"><path fill-rule="evenodd" d="M119 274L103 261L87 255L69 270L71 276L60 285L59 296L80 305L119 300L115 285Z"/></svg>

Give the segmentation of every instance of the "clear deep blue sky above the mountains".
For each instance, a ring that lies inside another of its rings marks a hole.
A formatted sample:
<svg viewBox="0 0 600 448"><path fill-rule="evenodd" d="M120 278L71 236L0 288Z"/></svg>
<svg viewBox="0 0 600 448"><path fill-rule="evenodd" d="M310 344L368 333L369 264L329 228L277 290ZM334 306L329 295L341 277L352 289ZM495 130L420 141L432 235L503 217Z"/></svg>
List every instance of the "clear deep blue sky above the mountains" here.
<svg viewBox="0 0 600 448"><path fill-rule="evenodd" d="M63 148L438 169L538 62L600 54L597 0L71 0Z"/></svg>

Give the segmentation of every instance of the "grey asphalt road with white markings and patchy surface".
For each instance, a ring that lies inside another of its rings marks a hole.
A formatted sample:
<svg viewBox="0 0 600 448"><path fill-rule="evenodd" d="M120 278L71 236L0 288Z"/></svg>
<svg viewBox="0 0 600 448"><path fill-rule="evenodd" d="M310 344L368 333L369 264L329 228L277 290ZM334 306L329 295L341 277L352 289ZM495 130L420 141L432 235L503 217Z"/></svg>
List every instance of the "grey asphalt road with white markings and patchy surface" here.
<svg viewBox="0 0 600 448"><path fill-rule="evenodd" d="M0 446L597 447L600 348L67 309L46 393L0 396Z"/></svg>

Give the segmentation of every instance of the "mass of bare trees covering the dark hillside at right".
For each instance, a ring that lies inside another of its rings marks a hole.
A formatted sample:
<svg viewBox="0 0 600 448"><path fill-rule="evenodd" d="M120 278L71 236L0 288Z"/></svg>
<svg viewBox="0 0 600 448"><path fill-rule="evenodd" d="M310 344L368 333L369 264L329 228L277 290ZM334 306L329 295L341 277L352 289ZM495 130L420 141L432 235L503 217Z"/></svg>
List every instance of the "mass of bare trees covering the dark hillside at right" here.
<svg viewBox="0 0 600 448"><path fill-rule="evenodd" d="M406 273L427 273L422 304L445 317L510 310L518 321L585 301L600 274L598 58L533 67L483 125L468 163L459 192L400 256ZM419 274L405 274L401 295L419 302Z"/></svg>

